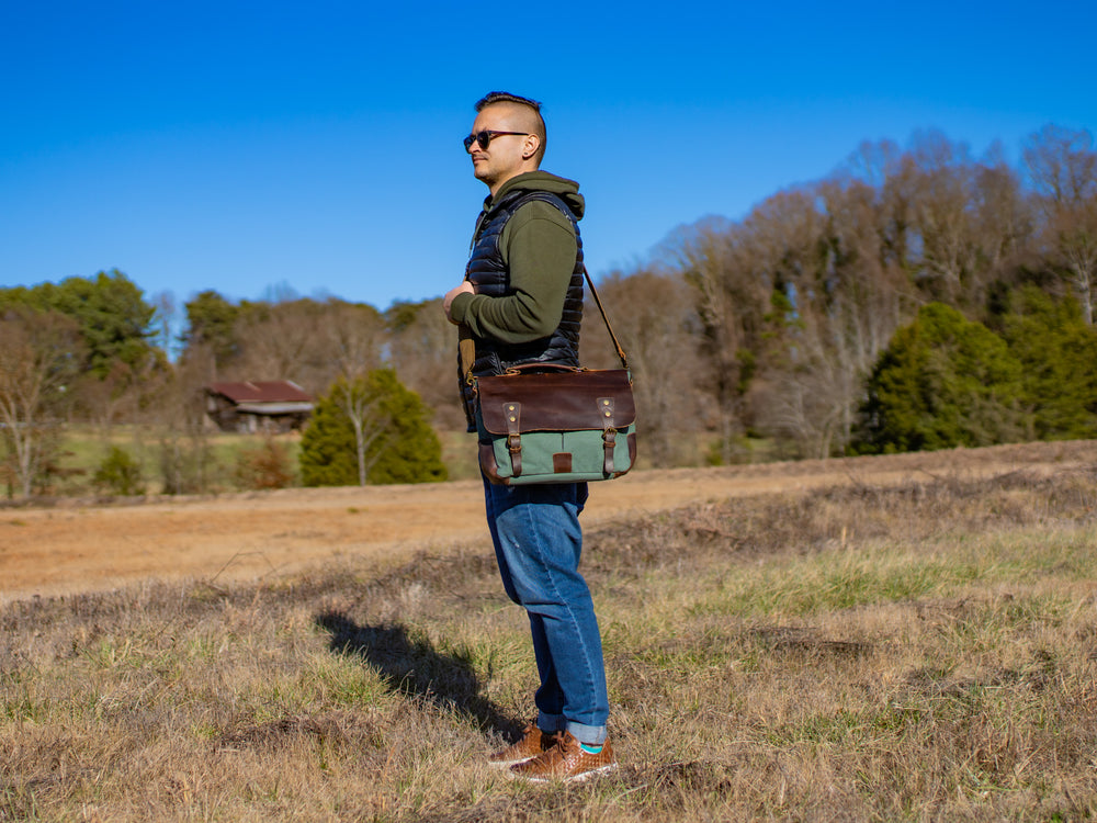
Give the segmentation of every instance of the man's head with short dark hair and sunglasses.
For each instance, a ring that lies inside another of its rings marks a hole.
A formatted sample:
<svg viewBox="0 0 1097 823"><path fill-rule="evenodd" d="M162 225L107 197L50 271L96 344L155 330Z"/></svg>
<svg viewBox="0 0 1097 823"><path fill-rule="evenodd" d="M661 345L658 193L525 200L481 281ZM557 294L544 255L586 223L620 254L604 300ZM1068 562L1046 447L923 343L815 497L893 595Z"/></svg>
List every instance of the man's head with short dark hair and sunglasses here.
<svg viewBox="0 0 1097 823"><path fill-rule="evenodd" d="M476 102L470 138L473 173L495 194L510 178L540 168L547 143L541 103L493 91Z"/></svg>

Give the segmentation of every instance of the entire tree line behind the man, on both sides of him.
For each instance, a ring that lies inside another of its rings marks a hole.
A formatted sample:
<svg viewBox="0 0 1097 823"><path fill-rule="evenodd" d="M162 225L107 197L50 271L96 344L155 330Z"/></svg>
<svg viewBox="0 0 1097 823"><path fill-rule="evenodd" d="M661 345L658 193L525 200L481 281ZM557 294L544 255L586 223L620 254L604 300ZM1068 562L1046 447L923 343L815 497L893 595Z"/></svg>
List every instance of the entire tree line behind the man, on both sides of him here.
<svg viewBox="0 0 1097 823"><path fill-rule="evenodd" d="M759 441L770 455L826 458L1097 436L1097 153L1088 132L1049 125L1020 157L1011 166L994 146L976 158L938 132L905 148L864 143L826 178L742 219L681 226L643 264L604 277L645 459L753 460ZM35 456L21 432L146 424L182 488L201 475L185 465L199 460L188 438L214 380L350 397L386 370L437 429L463 429L439 303L382 312L210 290L183 305L177 336L170 297L154 305L117 271L0 290L5 466L30 492L49 438ZM613 362L591 304L583 358Z"/></svg>

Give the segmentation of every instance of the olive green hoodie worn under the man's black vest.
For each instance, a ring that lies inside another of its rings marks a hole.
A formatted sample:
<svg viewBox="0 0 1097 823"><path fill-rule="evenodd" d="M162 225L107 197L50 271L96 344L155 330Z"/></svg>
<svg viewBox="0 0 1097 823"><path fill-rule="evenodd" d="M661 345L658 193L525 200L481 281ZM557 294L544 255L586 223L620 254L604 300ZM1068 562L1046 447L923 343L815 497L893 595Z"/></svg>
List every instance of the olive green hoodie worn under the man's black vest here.
<svg viewBox="0 0 1097 823"><path fill-rule="evenodd" d="M546 171L529 171L508 180L494 198L484 201L480 217L514 189L552 192L567 203L576 219L583 217L579 184ZM564 313L576 249L572 223L558 208L543 201L525 203L499 237L499 251L510 274L509 293L502 297L457 295L450 315L476 337L500 342L521 343L547 337Z"/></svg>

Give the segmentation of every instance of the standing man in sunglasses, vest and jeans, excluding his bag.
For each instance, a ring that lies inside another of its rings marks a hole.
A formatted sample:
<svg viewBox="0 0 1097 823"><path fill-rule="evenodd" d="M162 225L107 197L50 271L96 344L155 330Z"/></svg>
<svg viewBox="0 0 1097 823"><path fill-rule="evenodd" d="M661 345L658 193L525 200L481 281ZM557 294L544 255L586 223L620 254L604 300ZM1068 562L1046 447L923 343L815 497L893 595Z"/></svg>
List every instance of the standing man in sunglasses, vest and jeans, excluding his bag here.
<svg viewBox="0 0 1097 823"><path fill-rule="evenodd" d="M465 150L490 193L473 234L465 280L443 301L446 317L461 328L462 371L499 374L531 362L578 365L577 221L584 208L578 183L539 170L546 144L540 103L491 92L476 103L476 112ZM475 431L465 380L462 392ZM512 487L485 478L484 493L504 588L529 615L541 677L535 722L490 760L534 781L583 780L611 769L617 760L606 735L601 638L578 572L587 484Z"/></svg>

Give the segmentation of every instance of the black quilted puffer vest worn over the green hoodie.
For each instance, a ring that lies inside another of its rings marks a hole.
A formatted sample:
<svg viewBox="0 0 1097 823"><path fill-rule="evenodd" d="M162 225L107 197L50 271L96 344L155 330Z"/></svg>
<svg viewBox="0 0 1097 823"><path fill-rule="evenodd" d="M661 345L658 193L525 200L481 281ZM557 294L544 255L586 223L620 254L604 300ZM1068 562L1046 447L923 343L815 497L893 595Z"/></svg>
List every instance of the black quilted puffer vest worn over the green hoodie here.
<svg viewBox="0 0 1097 823"><path fill-rule="evenodd" d="M476 286L477 294L491 297L502 297L510 293L510 272L502 261L499 249L499 238L520 206L534 200L550 203L558 208L572 223L575 229L575 268L564 297L564 313L559 325L547 337L523 343L505 343L498 340L477 337L476 359L473 362L473 375L501 374L511 365L520 363L559 363L564 365L579 364L579 324L583 320L583 239L579 236L578 222L567 204L555 194L546 191L529 191L516 189L508 192L490 212L482 215L473 236L468 266L465 268L465 279ZM465 416L468 419L470 431L475 429L475 395L473 387L461 375L461 394L464 399Z"/></svg>

